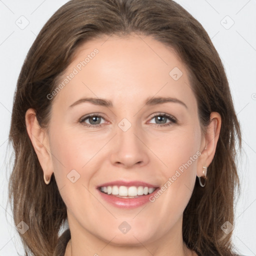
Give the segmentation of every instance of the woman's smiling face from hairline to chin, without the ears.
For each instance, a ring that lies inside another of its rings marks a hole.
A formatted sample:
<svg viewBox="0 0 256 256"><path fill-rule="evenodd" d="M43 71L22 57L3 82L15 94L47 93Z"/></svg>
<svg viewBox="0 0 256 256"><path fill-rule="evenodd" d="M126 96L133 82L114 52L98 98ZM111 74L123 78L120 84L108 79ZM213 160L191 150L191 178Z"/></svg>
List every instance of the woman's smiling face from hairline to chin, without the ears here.
<svg viewBox="0 0 256 256"><path fill-rule="evenodd" d="M49 148L70 230L126 245L173 239L203 149L188 72L149 36L107 38L79 48L52 99Z"/></svg>

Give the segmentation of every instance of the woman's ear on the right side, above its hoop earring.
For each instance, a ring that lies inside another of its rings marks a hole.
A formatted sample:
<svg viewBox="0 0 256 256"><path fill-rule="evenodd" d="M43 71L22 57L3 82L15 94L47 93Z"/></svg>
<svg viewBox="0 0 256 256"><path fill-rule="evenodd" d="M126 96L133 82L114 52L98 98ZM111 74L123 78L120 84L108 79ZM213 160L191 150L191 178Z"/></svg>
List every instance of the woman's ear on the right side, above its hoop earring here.
<svg viewBox="0 0 256 256"><path fill-rule="evenodd" d="M221 116L218 112L210 113L210 123L206 128L205 134L202 134L202 140L200 145L200 156L197 162L196 175L198 177L203 175L203 166L208 167L211 163L219 137L221 126Z"/></svg>

